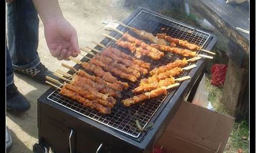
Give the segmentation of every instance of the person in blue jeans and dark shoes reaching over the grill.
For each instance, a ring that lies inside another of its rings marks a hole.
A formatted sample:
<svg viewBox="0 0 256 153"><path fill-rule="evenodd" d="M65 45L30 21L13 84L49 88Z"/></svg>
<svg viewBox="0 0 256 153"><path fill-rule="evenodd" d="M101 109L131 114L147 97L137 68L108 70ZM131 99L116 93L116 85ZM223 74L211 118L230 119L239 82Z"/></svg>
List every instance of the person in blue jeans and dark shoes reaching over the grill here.
<svg viewBox="0 0 256 153"><path fill-rule="evenodd" d="M29 101L17 90L13 71L45 84L46 75L53 77L41 62L37 53L39 18L44 24L47 46L57 60L69 60L80 53L76 30L63 17L57 0L7 1L6 44L6 109L26 112ZM6 140L11 140L6 128ZM7 150L11 141L6 142Z"/></svg>

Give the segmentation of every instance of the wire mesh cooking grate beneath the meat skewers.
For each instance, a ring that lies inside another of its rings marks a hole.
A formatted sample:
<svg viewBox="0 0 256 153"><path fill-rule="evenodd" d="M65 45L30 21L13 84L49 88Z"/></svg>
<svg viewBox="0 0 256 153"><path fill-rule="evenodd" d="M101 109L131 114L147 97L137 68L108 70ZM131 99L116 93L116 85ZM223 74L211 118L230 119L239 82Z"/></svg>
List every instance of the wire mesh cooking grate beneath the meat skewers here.
<svg viewBox="0 0 256 153"><path fill-rule="evenodd" d="M162 32L161 29L164 28L166 29L164 32L167 33L168 35L174 38L187 40L188 42L195 43L199 46L203 46L210 37L210 35L207 33L195 30L193 28L189 28L186 25L177 23L175 21L163 18L161 16L158 16L156 14L152 14L146 11L140 11L140 13L138 13L138 15L132 21L130 21L129 25L131 27L138 28L140 30L144 30L147 32L151 32L153 34L161 33ZM123 32L128 31L131 35L138 38L136 34L129 31L129 29L127 28L123 28L119 26L118 29ZM112 32L111 34L114 34L112 36L114 36L115 38L121 37L120 34L117 34L114 32ZM145 40L145 42L147 41ZM131 53L128 50L116 46L113 41L109 40L108 43L106 43L105 45L114 46L116 48L119 48L126 54L131 55ZM100 47L96 46L96 48L99 49ZM150 58L144 58L144 57L142 58L142 60L148 63L152 63L152 68L154 68L161 65L165 65L169 62L173 62L177 58L181 59L182 57L178 55L166 54L159 61L154 61ZM86 60L86 59L83 59L83 60ZM188 74L188 71L184 72L179 77L187 74ZM119 78L118 76L115 76L115 77L117 77L120 81L125 81ZM142 75L140 79L146 78L146 77L148 77L148 75L144 75L144 76ZM122 92L122 96L123 96L122 99L133 96L133 93L131 92L131 90L137 87L139 85L139 82L129 83L129 85L130 85L129 89ZM177 90L170 91L168 92L167 95L173 96L176 91ZM81 104L76 103L70 100L69 98L59 94L59 90L55 90L47 98L83 116L89 117L95 121L98 121L102 124L112 127L113 129L121 133L124 133L134 138L138 138L141 135L141 131L137 128L135 120L139 121L141 127L143 128L146 127L147 124L150 122L151 118L154 116L156 111L161 106L161 104L164 102L164 99L166 97L167 96L159 96L154 99L146 100L145 103L141 105L134 105L129 108L122 106L121 103L117 103L117 105L112 109L112 113L110 115L99 114L95 110L85 108ZM121 99L117 99L118 102L120 100Z"/></svg>

